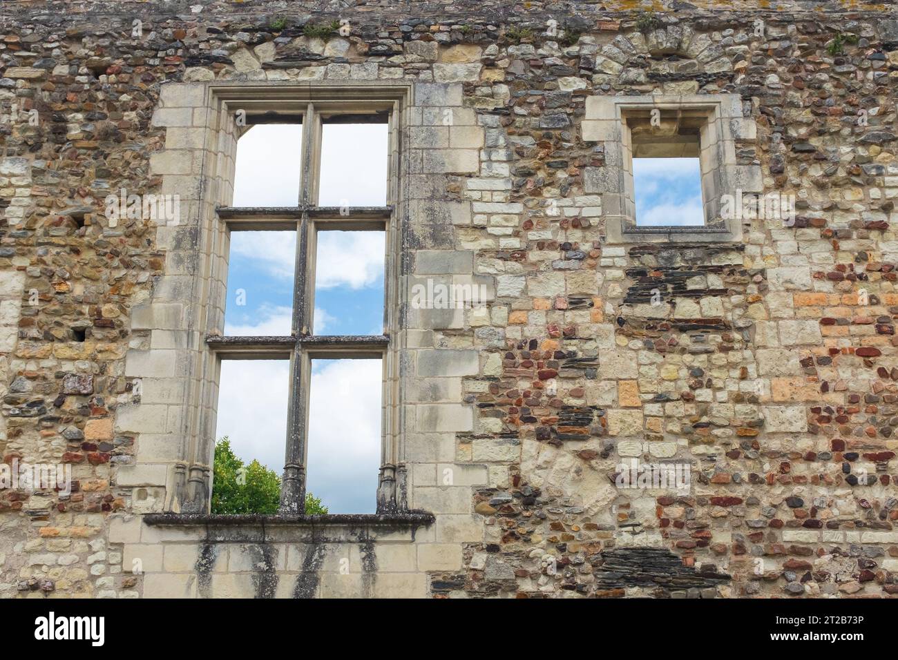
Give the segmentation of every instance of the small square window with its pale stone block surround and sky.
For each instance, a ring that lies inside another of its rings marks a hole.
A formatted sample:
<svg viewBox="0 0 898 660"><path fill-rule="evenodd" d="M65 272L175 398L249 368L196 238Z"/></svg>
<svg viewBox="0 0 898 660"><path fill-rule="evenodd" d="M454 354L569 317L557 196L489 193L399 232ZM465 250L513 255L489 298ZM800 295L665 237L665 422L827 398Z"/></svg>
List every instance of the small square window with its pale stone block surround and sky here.
<svg viewBox="0 0 898 660"><path fill-rule="evenodd" d="M738 94L589 96L581 130L603 144L584 192L602 196L606 242L742 239L744 223L722 200L763 184L760 166L736 156L738 143L756 139Z"/></svg>

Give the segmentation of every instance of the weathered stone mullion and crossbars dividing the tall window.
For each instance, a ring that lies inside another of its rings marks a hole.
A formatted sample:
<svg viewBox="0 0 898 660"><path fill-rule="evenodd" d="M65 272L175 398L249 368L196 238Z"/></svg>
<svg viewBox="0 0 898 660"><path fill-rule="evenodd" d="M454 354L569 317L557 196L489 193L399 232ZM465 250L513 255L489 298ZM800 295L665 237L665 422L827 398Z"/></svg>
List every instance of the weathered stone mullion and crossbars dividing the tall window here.
<svg viewBox="0 0 898 660"><path fill-rule="evenodd" d="M322 90L326 92L327 90ZM395 96L396 93L393 92ZM240 107L240 102L233 103ZM295 207L218 207L217 216L229 231L291 230L297 233L295 256L295 284L292 333L277 337L227 337L209 334L207 347L217 359L285 359L290 360L289 411L287 417L285 467L281 487L280 509L285 514L303 514L305 501L307 431L311 363L314 358L382 360L384 383L389 383L394 360L390 359L391 341L388 333L381 335L314 335L313 309L315 286L316 233L319 230L381 231L385 233L387 251L393 243L393 209L398 190L398 101L314 101L303 110L292 110L293 121L303 123L303 154L300 192ZM390 154L387 199L383 207L319 207L318 187L321 171L322 119L335 122L365 121L372 112L389 117ZM361 113L361 114L360 114ZM297 116L300 115L300 116ZM286 123L285 114L275 114L264 107L247 117L254 123ZM385 259L384 328L392 328L395 321L390 312L395 287L391 286L392 260ZM404 508L397 496L398 447L390 419L391 393L383 391L382 452L378 480L377 510L383 513Z"/></svg>

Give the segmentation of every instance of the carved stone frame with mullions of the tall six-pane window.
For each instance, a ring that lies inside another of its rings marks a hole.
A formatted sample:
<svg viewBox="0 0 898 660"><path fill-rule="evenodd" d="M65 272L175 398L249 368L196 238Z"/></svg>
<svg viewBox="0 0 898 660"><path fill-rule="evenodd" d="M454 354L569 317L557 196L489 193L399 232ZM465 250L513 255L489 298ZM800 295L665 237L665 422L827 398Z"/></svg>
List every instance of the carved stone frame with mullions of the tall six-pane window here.
<svg viewBox="0 0 898 660"><path fill-rule="evenodd" d="M208 510L211 497L209 467L215 450L216 402L221 362L224 359L290 360L290 409L287 419L286 460L282 481L282 515L302 515L307 455L308 392L313 358L380 358L383 361L383 415L381 466L378 479L377 513L408 510L406 471L401 462L401 400L399 347L394 338L400 330L399 255L401 232L397 208L401 207L401 140L409 125L409 83L365 84L353 81L330 84L210 84L207 87L203 193L199 205L198 248L202 254L205 286L193 304L200 341L198 357L189 371L189 390L199 405L185 447L182 470L187 471L187 492L180 501L184 513ZM237 110L248 124L296 121L303 115L303 173L296 207L232 207L236 145L243 128ZM321 115L386 113L389 126L387 199L383 207L318 207L317 168L320 163ZM305 118L314 118L308 121ZM195 120L196 121L196 120ZM211 156L211 157L210 157ZM314 272L316 231L383 230L384 333L377 336L314 336L311 324L313 278L295 277L294 318L290 336L224 337L227 260L232 230L286 229L297 232L297 266ZM183 479L183 478L182 478ZM176 479L177 481L177 479ZM181 482L183 483L183 482ZM374 494L372 494L374 496Z"/></svg>

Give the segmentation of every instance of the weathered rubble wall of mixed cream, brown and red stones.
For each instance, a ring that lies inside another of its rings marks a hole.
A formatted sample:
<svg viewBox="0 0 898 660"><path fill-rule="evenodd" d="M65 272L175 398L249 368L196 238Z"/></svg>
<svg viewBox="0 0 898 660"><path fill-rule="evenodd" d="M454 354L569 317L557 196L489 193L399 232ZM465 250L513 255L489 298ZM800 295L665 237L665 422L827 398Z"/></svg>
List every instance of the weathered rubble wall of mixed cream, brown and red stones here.
<svg viewBox="0 0 898 660"><path fill-rule="evenodd" d="M0 490L0 597L898 594L898 16L674 5L4 5L0 452L74 488ZM410 86L396 277L489 302L403 307L418 513L185 518L233 147L207 103L314 84ZM731 186L795 222L611 231L595 99L652 94L733 100ZM119 189L184 222L110 223ZM631 459L688 492L621 488Z"/></svg>

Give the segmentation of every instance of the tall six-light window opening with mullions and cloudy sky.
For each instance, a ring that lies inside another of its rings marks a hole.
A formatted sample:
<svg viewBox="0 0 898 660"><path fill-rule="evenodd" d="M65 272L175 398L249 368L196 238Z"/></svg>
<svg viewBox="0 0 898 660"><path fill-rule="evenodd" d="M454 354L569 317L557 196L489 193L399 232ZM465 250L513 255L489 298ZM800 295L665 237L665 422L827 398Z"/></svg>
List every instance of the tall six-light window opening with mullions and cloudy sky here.
<svg viewBox="0 0 898 660"><path fill-rule="evenodd" d="M396 101L342 96L223 107L236 144L219 161L233 196L216 208L225 300L206 337L215 436L283 475L284 514L307 493L329 514L405 507L388 330Z"/></svg>

